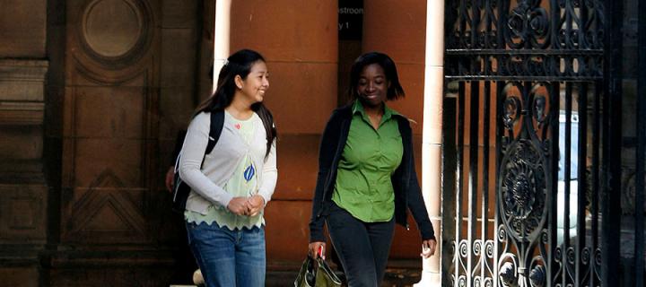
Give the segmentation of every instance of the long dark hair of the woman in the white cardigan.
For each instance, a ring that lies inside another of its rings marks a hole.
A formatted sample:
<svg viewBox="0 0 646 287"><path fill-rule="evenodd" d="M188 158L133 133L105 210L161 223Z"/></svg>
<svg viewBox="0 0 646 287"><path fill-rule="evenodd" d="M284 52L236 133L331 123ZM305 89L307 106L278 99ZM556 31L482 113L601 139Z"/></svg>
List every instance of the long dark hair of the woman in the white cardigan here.
<svg viewBox="0 0 646 287"><path fill-rule="evenodd" d="M251 72L251 66L258 62L265 62L265 58L254 50L241 49L240 51L233 53L233 55L227 58L227 63L223 65L222 69L220 69L217 88L213 95L197 106L195 114L197 115L203 111L222 111L229 107L237 89L234 81L235 76L240 75L243 80L247 79L247 76ZM278 136L274 126L274 116L272 116L269 109L266 109L262 102L252 104L251 109L258 114L258 117L262 119L263 126L265 126L267 141L266 157L269 155L272 143L274 143L275 138Z"/></svg>

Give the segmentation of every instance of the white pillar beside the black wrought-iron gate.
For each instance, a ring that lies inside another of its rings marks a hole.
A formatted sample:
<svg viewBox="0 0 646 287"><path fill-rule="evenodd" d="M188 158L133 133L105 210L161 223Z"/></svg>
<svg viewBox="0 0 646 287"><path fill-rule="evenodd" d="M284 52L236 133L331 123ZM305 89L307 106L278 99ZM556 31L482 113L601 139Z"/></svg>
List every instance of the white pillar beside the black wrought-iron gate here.
<svg viewBox="0 0 646 287"><path fill-rule="evenodd" d="M444 1L426 0L422 193L438 241L435 255L423 259L415 286L441 285L441 113L444 77Z"/></svg>

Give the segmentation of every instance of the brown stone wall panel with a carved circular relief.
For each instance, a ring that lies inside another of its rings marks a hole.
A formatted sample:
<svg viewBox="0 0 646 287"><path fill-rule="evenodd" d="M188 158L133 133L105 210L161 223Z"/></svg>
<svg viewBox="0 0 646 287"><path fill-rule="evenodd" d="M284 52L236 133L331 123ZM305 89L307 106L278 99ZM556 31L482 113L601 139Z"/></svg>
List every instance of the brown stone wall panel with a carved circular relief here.
<svg viewBox="0 0 646 287"><path fill-rule="evenodd" d="M147 85L132 83L146 72L154 76L158 4L144 0L86 0L68 5L67 83Z"/></svg>

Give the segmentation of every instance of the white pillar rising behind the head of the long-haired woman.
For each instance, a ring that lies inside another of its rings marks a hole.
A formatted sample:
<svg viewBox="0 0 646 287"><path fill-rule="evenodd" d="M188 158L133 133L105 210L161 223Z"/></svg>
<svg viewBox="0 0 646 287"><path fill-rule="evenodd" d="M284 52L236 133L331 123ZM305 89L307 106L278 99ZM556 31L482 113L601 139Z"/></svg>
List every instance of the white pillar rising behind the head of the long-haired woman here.
<svg viewBox="0 0 646 287"><path fill-rule="evenodd" d="M217 78L220 69L229 57L231 29L231 0L215 1L215 35L214 35L214 85L212 93L217 87Z"/></svg>

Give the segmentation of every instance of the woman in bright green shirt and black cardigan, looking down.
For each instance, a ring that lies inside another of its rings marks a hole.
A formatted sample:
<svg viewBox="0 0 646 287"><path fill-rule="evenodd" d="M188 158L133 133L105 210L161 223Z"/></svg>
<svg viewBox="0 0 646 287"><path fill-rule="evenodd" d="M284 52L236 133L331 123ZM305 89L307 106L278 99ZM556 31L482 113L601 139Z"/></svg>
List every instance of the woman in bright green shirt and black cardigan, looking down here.
<svg viewBox="0 0 646 287"><path fill-rule="evenodd" d="M385 54L357 58L348 91L353 102L336 109L320 144L312 203L310 255L325 247L323 225L350 287L379 286L395 223L406 228L407 210L422 233L423 257L435 236L415 173L408 119L386 106L404 96L395 63Z"/></svg>

